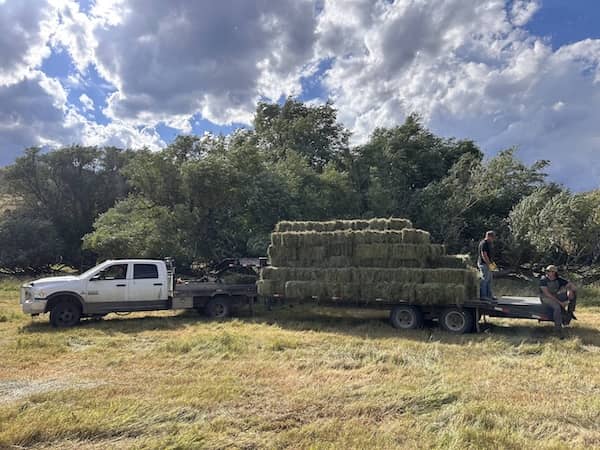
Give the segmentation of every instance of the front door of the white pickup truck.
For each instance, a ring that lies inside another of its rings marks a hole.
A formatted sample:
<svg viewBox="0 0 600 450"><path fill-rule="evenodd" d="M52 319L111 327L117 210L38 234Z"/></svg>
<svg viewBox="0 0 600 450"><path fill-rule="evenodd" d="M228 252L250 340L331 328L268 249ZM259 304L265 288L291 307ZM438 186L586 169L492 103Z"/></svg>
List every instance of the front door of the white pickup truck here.
<svg viewBox="0 0 600 450"><path fill-rule="evenodd" d="M90 312L118 310L128 300L129 264L115 263L98 272L88 281L86 303Z"/></svg>

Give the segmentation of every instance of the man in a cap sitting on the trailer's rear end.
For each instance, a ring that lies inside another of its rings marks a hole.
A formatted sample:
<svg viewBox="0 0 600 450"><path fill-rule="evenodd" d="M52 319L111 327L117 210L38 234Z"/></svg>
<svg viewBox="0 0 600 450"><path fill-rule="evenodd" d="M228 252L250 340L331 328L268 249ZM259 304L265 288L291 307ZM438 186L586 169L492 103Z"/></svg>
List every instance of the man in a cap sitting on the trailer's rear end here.
<svg viewBox="0 0 600 450"><path fill-rule="evenodd" d="M569 280L561 278L555 265L546 267L546 275L540 279L540 300L552 308L554 327L561 329L575 317L577 290Z"/></svg>

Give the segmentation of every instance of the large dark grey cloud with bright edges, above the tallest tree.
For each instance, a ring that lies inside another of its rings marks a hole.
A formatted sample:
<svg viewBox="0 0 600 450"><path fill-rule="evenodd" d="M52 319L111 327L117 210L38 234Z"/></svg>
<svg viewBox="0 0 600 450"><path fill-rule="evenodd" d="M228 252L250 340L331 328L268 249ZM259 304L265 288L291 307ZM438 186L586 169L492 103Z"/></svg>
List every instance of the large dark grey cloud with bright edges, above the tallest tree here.
<svg viewBox="0 0 600 450"><path fill-rule="evenodd" d="M105 113L122 120L200 111L215 123L248 123L259 98L300 93L313 55L306 0L127 0L93 14L96 64L117 87Z"/></svg>

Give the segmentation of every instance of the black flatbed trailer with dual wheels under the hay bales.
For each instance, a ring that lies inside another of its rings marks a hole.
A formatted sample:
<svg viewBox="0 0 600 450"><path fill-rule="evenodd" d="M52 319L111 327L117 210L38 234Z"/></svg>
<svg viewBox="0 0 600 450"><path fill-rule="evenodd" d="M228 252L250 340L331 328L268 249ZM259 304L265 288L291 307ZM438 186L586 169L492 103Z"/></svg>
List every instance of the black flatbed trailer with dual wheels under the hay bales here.
<svg viewBox="0 0 600 450"><path fill-rule="evenodd" d="M268 304L285 302L283 297L268 299ZM302 302L302 303L308 303ZM438 321L441 327L451 333L480 331L480 320L484 317L504 317L511 319L531 319L538 322L552 322L552 310L542 304L538 297L505 296L497 300L474 299L462 305L415 305L403 301L384 299L364 302L337 298L314 298L312 305L327 307L368 308L390 311L390 322L399 329L415 329L423 326L425 320Z"/></svg>

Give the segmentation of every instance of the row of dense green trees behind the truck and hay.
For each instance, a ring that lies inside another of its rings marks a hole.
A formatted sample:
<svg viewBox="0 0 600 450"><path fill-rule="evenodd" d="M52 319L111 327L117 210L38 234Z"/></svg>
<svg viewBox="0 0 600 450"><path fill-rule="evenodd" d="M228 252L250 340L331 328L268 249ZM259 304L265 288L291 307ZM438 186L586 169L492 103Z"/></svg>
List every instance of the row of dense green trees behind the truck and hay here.
<svg viewBox="0 0 600 450"><path fill-rule="evenodd" d="M408 217L453 253L499 235L507 267L593 264L600 191L549 182L514 149L486 160L417 115L349 143L333 104L259 103L252 129L177 137L163 150L25 150L0 171L0 268L85 268L173 256L181 267L266 254L279 220Z"/></svg>

